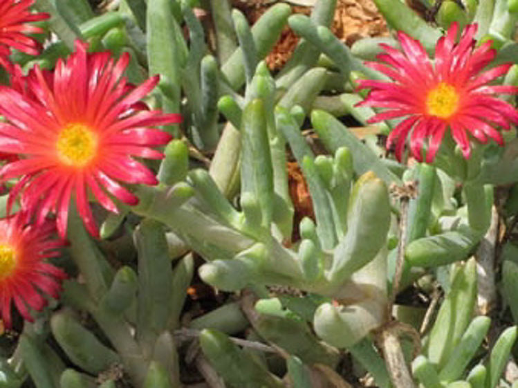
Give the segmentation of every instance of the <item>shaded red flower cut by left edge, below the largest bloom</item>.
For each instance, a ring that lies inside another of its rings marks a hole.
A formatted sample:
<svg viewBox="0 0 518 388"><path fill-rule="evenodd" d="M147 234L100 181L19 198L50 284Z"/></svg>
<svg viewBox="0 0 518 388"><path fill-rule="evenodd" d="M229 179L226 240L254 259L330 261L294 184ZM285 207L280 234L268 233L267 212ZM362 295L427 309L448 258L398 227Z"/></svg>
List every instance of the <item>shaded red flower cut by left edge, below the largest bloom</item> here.
<svg viewBox="0 0 518 388"><path fill-rule="evenodd" d="M28 308L39 311L47 304L44 294L59 297L65 272L45 259L59 255L63 240L53 239L55 223L29 225L26 213L0 219L0 318L11 326L11 304L32 322Z"/></svg>

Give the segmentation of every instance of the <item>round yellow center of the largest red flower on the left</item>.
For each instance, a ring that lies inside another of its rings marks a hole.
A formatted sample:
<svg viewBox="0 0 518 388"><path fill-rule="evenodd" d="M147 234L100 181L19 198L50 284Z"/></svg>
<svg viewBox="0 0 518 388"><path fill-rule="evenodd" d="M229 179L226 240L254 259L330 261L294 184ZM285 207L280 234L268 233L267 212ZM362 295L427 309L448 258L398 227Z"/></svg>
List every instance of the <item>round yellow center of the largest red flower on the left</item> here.
<svg viewBox="0 0 518 388"><path fill-rule="evenodd" d="M97 136L88 126L74 122L59 132L56 148L63 163L83 167L95 156Z"/></svg>

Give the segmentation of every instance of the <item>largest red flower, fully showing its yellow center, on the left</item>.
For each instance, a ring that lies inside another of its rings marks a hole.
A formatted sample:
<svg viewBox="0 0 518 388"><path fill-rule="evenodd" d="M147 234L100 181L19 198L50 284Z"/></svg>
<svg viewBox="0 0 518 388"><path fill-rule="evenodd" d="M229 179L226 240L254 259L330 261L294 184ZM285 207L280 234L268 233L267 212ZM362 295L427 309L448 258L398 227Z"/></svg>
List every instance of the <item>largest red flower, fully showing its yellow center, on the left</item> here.
<svg viewBox="0 0 518 388"><path fill-rule="evenodd" d="M71 198L86 228L98 236L88 203L91 192L111 212L118 212L109 194L129 205L138 198L118 183L156 185L155 175L134 157L163 158L151 147L164 145L169 133L150 126L179 122L180 116L149 111L140 100L158 83L151 77L138 87L122 73L129 56L117 62L109 53L86 53L77 42L55 71L35 67L26 77L18 69L13 87L0 86L0 152L20 160L0 167L3 181L21 177L10 192L41 222L51 210L64 237Z"/></svg>

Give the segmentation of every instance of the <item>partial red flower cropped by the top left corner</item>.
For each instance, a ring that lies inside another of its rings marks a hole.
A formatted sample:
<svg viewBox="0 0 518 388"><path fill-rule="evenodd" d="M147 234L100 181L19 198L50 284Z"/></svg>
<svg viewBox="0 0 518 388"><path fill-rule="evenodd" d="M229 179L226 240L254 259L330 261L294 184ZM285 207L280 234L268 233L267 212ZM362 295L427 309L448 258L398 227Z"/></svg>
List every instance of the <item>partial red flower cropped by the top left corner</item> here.
<svg viewBox="0 0 518 388"><path fill-rule="evenodd" d="M30 21L48 19L46 13L31 13L34 0L0 0L0 65L10 68L11 48L16 48L29 55L39 55L41 44L24 34L43 33Z"/></svg>

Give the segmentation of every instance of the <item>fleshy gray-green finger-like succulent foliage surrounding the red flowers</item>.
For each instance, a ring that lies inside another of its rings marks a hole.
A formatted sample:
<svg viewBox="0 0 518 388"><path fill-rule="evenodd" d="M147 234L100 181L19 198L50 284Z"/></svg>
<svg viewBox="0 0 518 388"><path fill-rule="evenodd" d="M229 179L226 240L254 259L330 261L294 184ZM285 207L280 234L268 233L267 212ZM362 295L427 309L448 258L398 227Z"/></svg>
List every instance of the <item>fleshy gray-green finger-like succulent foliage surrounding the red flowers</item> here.
<svg viewBox="0 0 518 388"><path fill-rule="evenodd" d="M467 0L460 6L446 0L436 25L400 0L374 2L390 28L419 39L429 53L440 28L477 22L477 39L492 38L499 48L495 63L516 59L516 1ZM280 388L289 381L310 388L315 364L336 367L338 349L345 348L378 386L389 388L387 364L372 336L388 321L397 248L387 237L398 241L401 221L389 187L411 182L417 193L405 220L402 287L429 268L451 278L427 346L411 364L413 376L426 388L497 387L516 328L503 331L485 360L473 365L490 319L472 316L477 274L470 255L490 226L493 185L518 180L518 142L497 151L490 145L466 161L446 139L434 166L380 159L376 142L359 140L335 116L367 124L376 109L355 106L365 96L355 91L355 80L386 77L362 61L380 53L378 43L397 47L398 41L368 38L349 48L329 29L336 3L315 2L311 17L290 15L286 3L277 3L250 26L220 0L121 0L102 15L85 0L35 2L52 15L48 27L58 40L37 58L15 53L19 64L51 68L77 38L89 39L93 50L130 53L129 80L159 75L147 102L181 113L184 122L165 128L176 139L160 165L153 165L160 184L136 187L139 205L122 208L102 225L103 239L131 236L127 252L136 259L127 257L115 270L107 250L71 212L68 252L80 281L64 284L62 308L49 313L50 329L26 326L12 359L0 360L0 387L21 387L28 376L38 388L115 387L110 378L101 385L95 378L118 367L136 388L181 387L177 341L196 268L195 255L184 254L192 250L205 261L198 275L207 284L229 292L248 288L261 298L244 311L231 301L190 324L188 333L198 336L203 353L197 362L208 360L228 386ZM215 53L195 5L212 12ZM286 66L272 74L263 59L288 25L302 39ZM504 84L515 85L517 78L515 66ZM330 90L334 95L323 95ZM320 151L305 136L305 121ZM381 122L379 133L395 124ZM286 172L292 156L315 215L295 225L299 241L292 241L295 205ZM207 160L208 171L200 167ZM461 194L456 183L463 185ZM511 197L509 213L513 206ZM113 241L103 243L113 248ZM502 288L517 320L514 250L510 244L504 249ZM448 269L437 269L442 266ZM270 298L267 287L295 289L304 297ZM229 335L250 326L255 338L285 356L286 379L268 370L266 356L232 342ZM66 366L46 342L49 335L66 355Z"/></svg>

